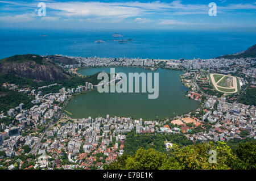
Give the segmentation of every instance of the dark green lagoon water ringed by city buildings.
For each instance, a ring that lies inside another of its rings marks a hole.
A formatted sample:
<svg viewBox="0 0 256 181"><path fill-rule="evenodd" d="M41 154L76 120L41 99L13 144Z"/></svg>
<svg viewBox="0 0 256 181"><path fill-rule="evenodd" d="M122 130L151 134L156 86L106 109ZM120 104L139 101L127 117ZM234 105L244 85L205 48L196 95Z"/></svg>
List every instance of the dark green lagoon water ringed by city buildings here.
<svg viewBox="0 0 256 181"><path fill-rule="evenodd" d="M77 73L92 75L101 71L110 73L110 68L80 69ZM142 68L115 68L115 72L129 73L154 73ZM72 113L73 118L106 117L134 117L136 119L158 119L179 115L195 110L199 102L188 99L184 94L188 91L180 82L183 71L158 69L159 96L157 99L148 99L148 92L118 93L94 91L82 93L73 97L65 110ZM128 76L127 76L128 77ZM154 85L154 84L153 84Z"/></svg>

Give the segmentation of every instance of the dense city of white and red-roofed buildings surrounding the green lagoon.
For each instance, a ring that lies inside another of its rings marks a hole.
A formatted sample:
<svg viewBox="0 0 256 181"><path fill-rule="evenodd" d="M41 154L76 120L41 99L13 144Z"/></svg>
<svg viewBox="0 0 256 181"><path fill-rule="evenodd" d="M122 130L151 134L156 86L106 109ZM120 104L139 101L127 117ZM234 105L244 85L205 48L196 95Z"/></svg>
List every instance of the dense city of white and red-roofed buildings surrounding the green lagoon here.
<svg viewBox="0 0 256 181"><path fill-rule="evenodd" d="M124 152L127 132L137 134L184 134L192 141L228 141L233 138L255 138L255 107L226 101L225 96L209 95L204 85L209 83L208 73L236 73L253 78L253 58L234 60L143 60L139 58L82 58L72 57L79 65L60 65L67 71L73 68L95 66L141 66L143 68L168 68L186 71L181 81L191 90L187 96L201 102L197 110L184 115L160 120L131 119L131 117L88 117L72 119L64 110L72 96L93 90L87 82L76 89L65 87L57 93L42 95L29 87L5 83L6 89L33 95L35 104L24 110L24 104L1 113L0 118L13 119L11 124L1 123L0 166L5 169L102 169L104 163L117 159ZM228 70L225 70L226 68ZM204 71L199 71L203 69ZM225 70L225 72L224 72ZM248 83L241 79L240 85ZM201 86L202 85L202 86ZM55 85L49 85L55 86ZM204 90L204 91L203 91ZM207 89L206 89L207 90ZM35 94L35 92L37 92ZM231 100L233 99L230 98ZM14 121L14 120L18 120ZM166 149L170 145L166 143ZM24 154L25 153L25 154ZM22 155L22 157L19 157ZM24 160L23 160L24 158ZM15 161L14 161L15 159Z"/></svg>

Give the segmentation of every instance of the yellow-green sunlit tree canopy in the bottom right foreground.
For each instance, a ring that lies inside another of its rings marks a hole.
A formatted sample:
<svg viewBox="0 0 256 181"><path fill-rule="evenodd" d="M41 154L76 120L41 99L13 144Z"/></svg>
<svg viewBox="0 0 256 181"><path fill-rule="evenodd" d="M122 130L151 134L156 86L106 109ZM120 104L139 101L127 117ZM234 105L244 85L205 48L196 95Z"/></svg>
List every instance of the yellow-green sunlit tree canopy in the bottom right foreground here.
<svg viewBox="0 0 256 181"><path fill-rule="evenodd" d="M213 151L211 152L211 150ZM214 153L216 153L216 157ZM104 169L255 169L255 153L253 142L239 144L236 150L230 149L225 142L221 141L218 141L217 144L208 142L184 147L174 145L167 154L152 148L141 148L134 155L122 155L116 162L106 165ZM210 162L210 160L214 161L214 158L216 158L216 162Z"/></svg>

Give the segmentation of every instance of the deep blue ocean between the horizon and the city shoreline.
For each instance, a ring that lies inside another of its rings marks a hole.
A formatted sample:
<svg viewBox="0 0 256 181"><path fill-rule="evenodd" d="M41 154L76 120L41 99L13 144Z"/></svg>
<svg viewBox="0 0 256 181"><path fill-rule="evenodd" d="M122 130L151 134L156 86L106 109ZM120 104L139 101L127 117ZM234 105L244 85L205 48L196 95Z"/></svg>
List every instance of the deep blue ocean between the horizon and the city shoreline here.
<svg viewBox="0 0 256 181"><path fill-rule="evenodd" d="M123 37L112 37L113 33ZM47 35L47 36L42 36ZM113 40L127 40L118 43ZM94 43L104 40L105 43ZM255 32L0 30L0 58L14 54L154 59L214 58L254 45Z"/></svg>

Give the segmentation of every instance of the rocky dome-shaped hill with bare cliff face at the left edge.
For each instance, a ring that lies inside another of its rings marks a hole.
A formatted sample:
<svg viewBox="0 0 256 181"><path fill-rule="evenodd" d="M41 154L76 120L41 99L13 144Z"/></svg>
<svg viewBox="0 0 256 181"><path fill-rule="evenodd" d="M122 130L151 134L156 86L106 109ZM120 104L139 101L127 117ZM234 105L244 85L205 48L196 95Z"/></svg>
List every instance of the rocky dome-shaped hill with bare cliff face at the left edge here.
<svg viewBox="0 0 256 181"><path fill-rule="evenodd" d="M37 54L15 55L0 60L0 74L14 74L36 81L59 81L70 75L47 57Z"/></svg>

